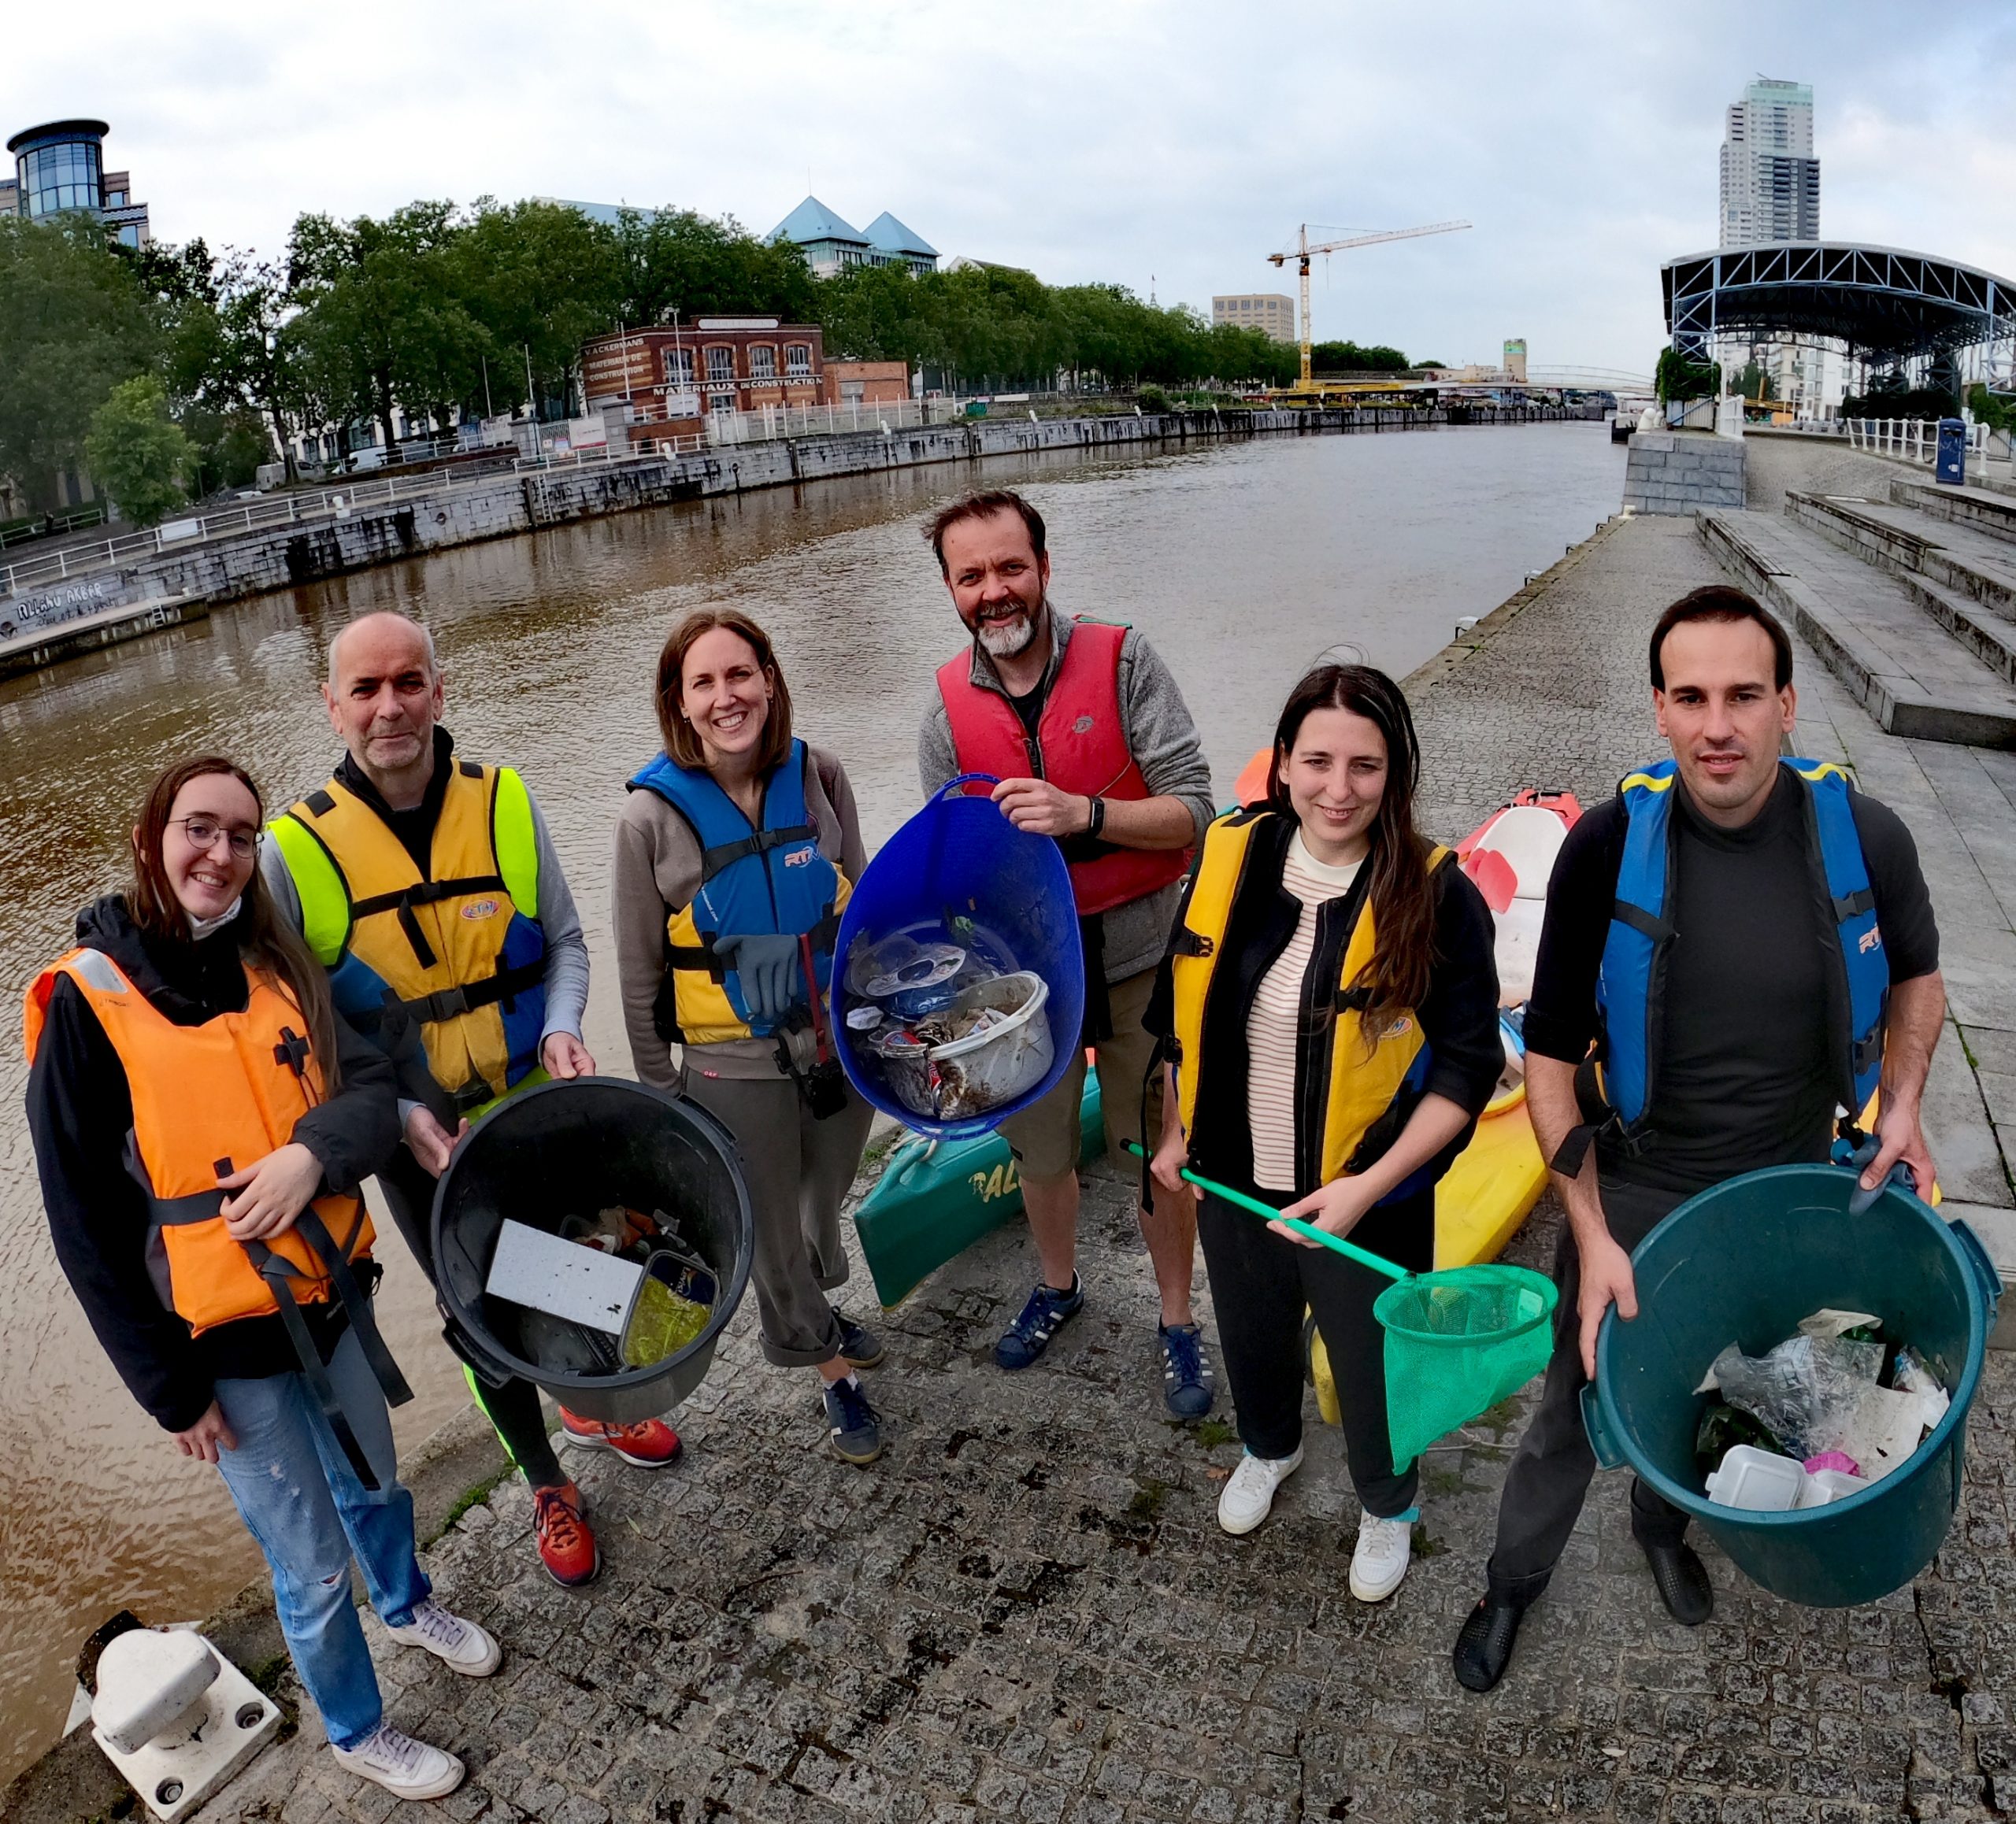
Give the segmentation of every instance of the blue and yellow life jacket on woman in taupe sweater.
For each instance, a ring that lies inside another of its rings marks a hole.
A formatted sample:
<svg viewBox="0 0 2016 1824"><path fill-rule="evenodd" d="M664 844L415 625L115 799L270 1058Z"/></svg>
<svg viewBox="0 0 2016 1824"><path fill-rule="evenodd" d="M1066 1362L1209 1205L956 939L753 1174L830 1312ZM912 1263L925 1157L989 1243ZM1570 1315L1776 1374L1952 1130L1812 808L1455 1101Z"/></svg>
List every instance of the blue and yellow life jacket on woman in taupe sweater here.
<svg viewBox="0 0 2016 1824"><path fill-rule="evenodd" d="M762 828L750 824L712 774L679 766L669 754L629 780L631 792L655 792L677 810L700 842L700 889L665 919L661 1038L675 1044L766 1038L800 1012L752 1022L742 982L714 949L720 937L810 935L812 978L825 1000L839 911L851 885L818 849L818 826L804 806L804 742L794 740L764 780Z"/></svg>

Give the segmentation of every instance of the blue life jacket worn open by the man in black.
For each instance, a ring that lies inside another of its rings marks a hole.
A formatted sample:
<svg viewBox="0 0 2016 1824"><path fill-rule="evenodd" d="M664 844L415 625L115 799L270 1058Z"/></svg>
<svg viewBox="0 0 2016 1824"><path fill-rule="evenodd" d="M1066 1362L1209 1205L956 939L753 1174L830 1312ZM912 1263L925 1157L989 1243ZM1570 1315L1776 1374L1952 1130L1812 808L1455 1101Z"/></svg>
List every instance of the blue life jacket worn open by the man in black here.
<svg viewBox="0 0 2016 1824"><path fill-rule="evenodd" d="M1839 969L1831 963L1829 1052L1839 1074L1835 1098L1855 1123L1883 1072L1883 1022L1889 1002L1889 957L1877 929L1869 865L1855 830L1849 778L1839 766L1816 760L1782 760L1806 786L1806 851L1814 885L1824 877L1833 913ZM1657 760L1627 774L1617 786L1625 800L1625 857L1617 871L1617 903L1597 975L1597 1010L1603 1038L1597 1078L1609 1117L1621 1123L1623 1141L1637 1151L1657 1088L1659 1012L1665 998L1665 959L1673 945L1673 782L1671 760ZM1841 1030L1841 1010L1847 1030ZM1562 1149L1566 1151L1566 1149ZM1556 1165L1558 1169L1558 1165Z"/></svg>

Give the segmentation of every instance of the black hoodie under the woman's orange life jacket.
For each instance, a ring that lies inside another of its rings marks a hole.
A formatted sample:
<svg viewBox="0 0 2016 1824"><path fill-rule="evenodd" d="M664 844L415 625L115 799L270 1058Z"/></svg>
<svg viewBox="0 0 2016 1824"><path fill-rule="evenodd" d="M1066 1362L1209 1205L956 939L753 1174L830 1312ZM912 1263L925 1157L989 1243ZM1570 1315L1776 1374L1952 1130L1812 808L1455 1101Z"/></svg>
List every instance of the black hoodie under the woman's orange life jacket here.
<svg viewBox="0 0 2016 1824"><path fill-rule="evenodd" d="M77 917L77 941L105 951L177 1026L202 1026L246 1006L240 927L200 943L145 935L125 901L107 897ZM393 1066L337 1022L343 1090L294 1125L323 1163L325 1189L355 1191L399 1145ZM67 975L56 980L28 1076L28 1133L56 1260L113 1366L165 1431L185 1431L218 1381L286 1375L298 1358L278 1316L240 1318L202 1336L161 1306L147 1278L147 1197L125 1169L133 1096L119 1052ZM341 1306L304 1306L323 1352L345 1330Z"/></svg>

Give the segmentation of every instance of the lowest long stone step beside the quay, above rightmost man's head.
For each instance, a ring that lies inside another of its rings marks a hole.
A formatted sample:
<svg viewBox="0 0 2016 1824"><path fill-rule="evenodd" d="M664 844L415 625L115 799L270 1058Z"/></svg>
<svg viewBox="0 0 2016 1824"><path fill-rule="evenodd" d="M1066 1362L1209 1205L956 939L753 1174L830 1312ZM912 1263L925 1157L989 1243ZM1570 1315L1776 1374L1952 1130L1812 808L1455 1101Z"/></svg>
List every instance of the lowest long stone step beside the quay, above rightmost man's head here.
<svg viewBox="0 0 2016 1824"><path fill-rule="evenodd" d="M1859 562L1833 538L1778 514L1702 514L1699 530L1724 568L1804 635L1883 730L1919 742L2016 748L2016 673L1964 643L1984 629L2002 633L1978 607L1970 605L1962 623L1960 601L1941 584L1923 576L1907 582ZM1956 631L1966 625L1962 637L1941 631L1939 609L1956 615ZM2000 653L1996 641L1986 645ZM2016 663L2016 653L2010 657Z"/></svg>

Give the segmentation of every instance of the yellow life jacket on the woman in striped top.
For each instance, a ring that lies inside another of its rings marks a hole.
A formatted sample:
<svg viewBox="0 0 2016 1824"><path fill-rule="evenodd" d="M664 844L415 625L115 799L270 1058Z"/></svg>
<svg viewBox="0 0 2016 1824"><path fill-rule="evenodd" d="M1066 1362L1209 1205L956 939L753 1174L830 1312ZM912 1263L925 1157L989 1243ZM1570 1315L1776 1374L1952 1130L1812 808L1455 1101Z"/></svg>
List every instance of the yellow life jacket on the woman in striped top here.
<svg viewBox="0 0 2016 1824"><path fill-rule="evenodd" d="M1189 903L1183 907L1183 919L1169 943L1177 1115L1185 1135L1195 1131L1206 1018L1214 1012L1210 1008L1212 978L1224 957L1232 901L1246 875L1254 832L1274 814L1272 810L1234 810L1206 830ZM1429 873L1447 859L1447 849L1435 849L1427 861ZM1367 891L1361 895L1361 909L1345 943L1333 1000L1331 1042L1325 1050L1318 1183L1371 1165L1399 1131L1399 1123L1391 1117L1403 1111L1411 1113L1409 1104L1419 1098L1427 1080L1431 1056L1413 1008L1381 1010L1379 1032L1375 1042L1367 1046L1365 990L1359 982L1371 965L1377 943L1371 893ZM1236 1010L1240 1020L1246 1018L1246 1008ZM1367 1151L1367 1141L1371 1141L1373 1151ZM1411 1185L1401 1187L1401 1191L1407 1189Z"/></svg>

